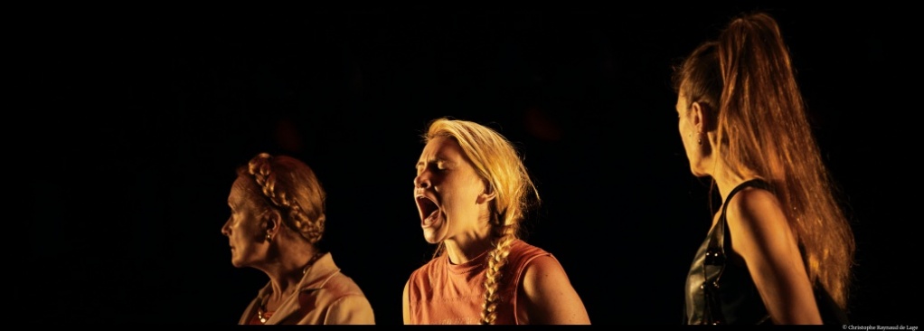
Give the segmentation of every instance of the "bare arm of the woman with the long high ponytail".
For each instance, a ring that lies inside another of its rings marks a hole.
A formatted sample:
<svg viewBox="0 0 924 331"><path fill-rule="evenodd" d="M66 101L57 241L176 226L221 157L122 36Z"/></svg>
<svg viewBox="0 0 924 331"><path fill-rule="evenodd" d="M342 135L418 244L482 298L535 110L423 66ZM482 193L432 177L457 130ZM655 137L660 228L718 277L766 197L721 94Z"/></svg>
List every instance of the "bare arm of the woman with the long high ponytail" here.
<svg viewBox="0 0 924 331"><path fill-rule="evenodd" d="M821 324L796 237L776 197L742 190L726 213L733 250L748 264L773 323Z"/></svg>

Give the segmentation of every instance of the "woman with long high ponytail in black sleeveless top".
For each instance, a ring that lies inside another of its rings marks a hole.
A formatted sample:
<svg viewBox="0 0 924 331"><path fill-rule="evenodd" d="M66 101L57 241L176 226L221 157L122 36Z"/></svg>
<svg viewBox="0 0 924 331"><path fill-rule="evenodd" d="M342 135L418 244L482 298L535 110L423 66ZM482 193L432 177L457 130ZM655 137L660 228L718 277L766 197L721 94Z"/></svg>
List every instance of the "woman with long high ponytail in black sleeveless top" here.
<svg viewBox="0 0 924 331"><path fill-rule="evenodd" d="M722 209L687 276L687 324L845 324L854 238L774 18L734 18L675 67L690 171Z"/></svg>

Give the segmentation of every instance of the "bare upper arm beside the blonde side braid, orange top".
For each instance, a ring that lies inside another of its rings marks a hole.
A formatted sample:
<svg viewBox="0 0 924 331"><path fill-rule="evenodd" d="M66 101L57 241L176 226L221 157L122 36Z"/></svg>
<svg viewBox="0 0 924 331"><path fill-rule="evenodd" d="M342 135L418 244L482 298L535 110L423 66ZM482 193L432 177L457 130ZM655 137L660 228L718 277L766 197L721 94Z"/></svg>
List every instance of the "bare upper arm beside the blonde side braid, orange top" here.
<svg viewBox="0 0 924 331"><path fill-rule="evenodd" d="M520 294L527 323L532 325L590 325L584 302L571 286L562 264L541 256L527 265Z"/></svg>

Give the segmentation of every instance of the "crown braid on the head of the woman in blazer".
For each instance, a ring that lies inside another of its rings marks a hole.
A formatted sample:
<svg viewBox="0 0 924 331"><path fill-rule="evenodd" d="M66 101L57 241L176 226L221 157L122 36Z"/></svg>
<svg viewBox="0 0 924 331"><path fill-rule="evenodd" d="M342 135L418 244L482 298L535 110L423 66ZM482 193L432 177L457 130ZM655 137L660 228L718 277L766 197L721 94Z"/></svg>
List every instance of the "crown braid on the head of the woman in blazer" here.
<svg viewBox="0 0 924 331"><path fill-rule="evenodd" d="M250 160L248 172L253 176L257 184L260 185L263 195L266 196L274 206L286 210L288 213L287 226L292 227L308 239L310 243L316 243L321 240L324 233L324 215L319 215L318 219L311 222L308 215L301 209L298 202L290 201L286 197L286 191L280 189L277 192L277 178L272 171L271 160L273 156L268 153L260 153L253 160Z"/></svg>

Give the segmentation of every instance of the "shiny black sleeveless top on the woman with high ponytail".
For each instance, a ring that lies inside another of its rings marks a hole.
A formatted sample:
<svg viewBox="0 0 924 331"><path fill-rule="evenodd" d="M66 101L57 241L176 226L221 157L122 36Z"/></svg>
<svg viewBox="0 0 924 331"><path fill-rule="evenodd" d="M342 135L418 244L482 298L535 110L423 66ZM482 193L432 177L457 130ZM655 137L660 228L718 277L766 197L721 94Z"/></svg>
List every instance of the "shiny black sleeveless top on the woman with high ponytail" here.
<svg viewBox="0 0 924 331"><path fill-rule="evenodd" d="M709 230L706 239L690 265L687 274L687 305L684 323L687 325L770 325L770 314L760 299L760 292L748 273L748 267L727 261L724 248L731 247L730 236L725 236L725 210L735 194L747 187L770 190L760 179L739 184L728 193L722 205L718 222ZM847 325L845 313L831 296L816 282L815 300L824 324Z"/></svg>

